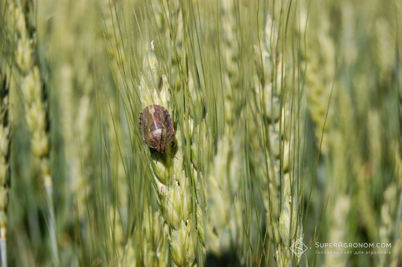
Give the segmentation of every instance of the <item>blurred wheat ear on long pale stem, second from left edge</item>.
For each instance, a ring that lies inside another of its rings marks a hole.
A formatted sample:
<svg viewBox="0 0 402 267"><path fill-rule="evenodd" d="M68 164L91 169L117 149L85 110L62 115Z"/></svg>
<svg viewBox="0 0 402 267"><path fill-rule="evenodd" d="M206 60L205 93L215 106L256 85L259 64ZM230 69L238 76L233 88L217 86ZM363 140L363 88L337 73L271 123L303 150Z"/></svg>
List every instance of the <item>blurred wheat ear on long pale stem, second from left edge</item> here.
<svg viewBox="0 0 402 267"><path fill-rule="evenodd" d="M25 107L25 118L31 132L32 152L40 160L41 179L46 192L48 210L48 229L51 240L52 256L55 265L59 265L56 239L56 223L53 207L53 179L50 174L49 120L47 110L47 92L40 76L40 67L36 54L37 40L31 25L30 8L32 2L9 1L7 14L10 29L14 35L14 62L18 69L18 86L21 88Z"/></svg>

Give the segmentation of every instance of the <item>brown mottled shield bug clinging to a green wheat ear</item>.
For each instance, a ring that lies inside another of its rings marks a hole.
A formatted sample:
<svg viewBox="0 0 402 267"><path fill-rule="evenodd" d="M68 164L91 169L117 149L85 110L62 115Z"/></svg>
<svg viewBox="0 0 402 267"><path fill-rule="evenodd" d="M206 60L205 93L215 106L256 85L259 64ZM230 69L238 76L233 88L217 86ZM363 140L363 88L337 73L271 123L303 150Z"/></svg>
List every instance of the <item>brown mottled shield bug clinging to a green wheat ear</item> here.
<svg viewBox="0 0 402 267"><path fill-rule="evenodd" d="M174 138L172 120L166 108L160 105L145 107L140 113L138 124L145 143L159 153L165 153L166 145Z"/></svg>

